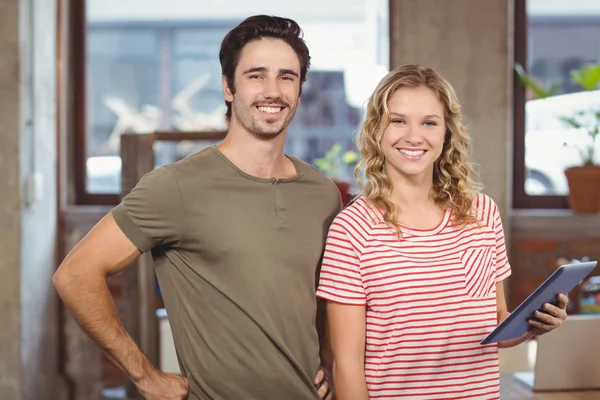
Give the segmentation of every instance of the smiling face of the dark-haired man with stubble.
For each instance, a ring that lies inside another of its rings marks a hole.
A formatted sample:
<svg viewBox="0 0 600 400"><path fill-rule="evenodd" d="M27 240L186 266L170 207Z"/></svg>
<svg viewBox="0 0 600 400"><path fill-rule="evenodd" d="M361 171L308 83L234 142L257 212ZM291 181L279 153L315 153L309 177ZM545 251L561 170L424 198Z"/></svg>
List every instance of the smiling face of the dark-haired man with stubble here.
<svg viewBox="0 0 600 400"><path fill-rule="evenodd" d="M262 139L277 137L288 127L300 102L300 61L281 39L248 43L235 70L235 94L223 77L230 101L231 123Z"/></svg>

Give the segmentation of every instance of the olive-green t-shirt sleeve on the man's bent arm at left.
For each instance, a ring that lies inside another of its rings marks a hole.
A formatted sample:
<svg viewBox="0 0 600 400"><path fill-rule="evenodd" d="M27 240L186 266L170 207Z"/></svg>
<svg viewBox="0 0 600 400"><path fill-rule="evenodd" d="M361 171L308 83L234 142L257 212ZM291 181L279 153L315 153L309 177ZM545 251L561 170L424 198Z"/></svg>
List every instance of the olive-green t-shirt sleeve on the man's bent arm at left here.
<svg viewBox="0 0 600 400"><path fill-rule="evenodd" d="M171 169L165 166L144 175L111 214L123 233L142 252L179 241L183 201Z"/></svg>

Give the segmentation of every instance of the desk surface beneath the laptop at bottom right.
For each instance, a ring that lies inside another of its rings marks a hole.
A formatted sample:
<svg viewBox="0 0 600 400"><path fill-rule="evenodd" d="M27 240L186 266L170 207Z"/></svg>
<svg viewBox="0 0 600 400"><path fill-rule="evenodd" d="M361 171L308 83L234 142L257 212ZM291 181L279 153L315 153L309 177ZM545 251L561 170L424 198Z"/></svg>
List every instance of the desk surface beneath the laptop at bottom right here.
<svg viewBox="0 0 600 400"><path fill-rule="evenodd" d="M600 400L600 390L568 392L532 392L510 373L500 374L501 400Z"/></svg>

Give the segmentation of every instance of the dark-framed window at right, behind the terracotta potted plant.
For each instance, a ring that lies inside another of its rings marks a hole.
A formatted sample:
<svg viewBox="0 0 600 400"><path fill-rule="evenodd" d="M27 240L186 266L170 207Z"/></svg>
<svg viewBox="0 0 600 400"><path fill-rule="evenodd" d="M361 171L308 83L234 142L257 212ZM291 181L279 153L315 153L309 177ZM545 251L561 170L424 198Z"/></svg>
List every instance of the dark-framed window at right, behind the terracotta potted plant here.
<svg viewBox="0 0 600 400"><path fill-rule="evenodd" d="M516 4L515 59L536 81L556 85L540 99L515 78L516 208L568 208L564 170L582 162L589 138L560 117L600 102L600 91L584 93L571 71L600 62L600 2L527 0ZM600 155L600 152L598 152Z"/></svg>

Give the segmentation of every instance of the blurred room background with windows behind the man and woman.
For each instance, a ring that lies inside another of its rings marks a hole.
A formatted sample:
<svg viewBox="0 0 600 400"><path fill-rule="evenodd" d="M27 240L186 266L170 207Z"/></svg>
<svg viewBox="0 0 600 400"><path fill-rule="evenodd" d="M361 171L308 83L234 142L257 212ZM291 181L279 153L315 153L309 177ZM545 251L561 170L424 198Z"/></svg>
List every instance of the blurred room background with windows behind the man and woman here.
<svg viewBox="0 0 600 400"><path fill-rule="evenodd" d="M133 398L51 277L141 173L221 140L220 42L254 14L304 30L312 65L286 152L345 198L372 90L392 68L427 65L455 87L500 207L509 307L564 260L600 258L600 1L2 0L0 400ZM147 267L110 289L142 348L175 370ZM571 293L571 314L600 315L598 279ZM528 354L501 358L503 372L531 369ZM503 398L534 398L511 382Z"/></svg>

